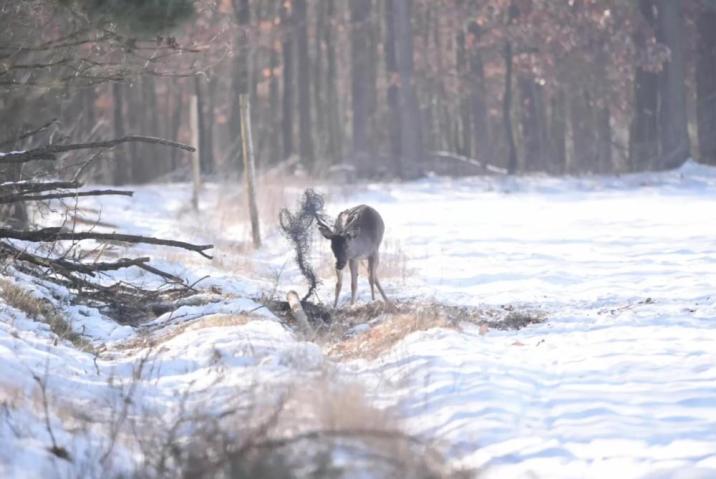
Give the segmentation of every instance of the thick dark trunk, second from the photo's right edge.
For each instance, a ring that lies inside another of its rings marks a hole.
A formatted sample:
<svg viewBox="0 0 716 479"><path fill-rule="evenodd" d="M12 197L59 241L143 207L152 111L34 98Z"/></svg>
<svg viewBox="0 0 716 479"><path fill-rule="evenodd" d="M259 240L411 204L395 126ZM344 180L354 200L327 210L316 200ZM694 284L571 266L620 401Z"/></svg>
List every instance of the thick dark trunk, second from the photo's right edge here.
<svg viewBox="0 0 716 479"><path fill-rule="evenodd" d="M661 161L660 169L681 166L690 155L686 84L684 78L684 36L681 0L658 0L659 39L670 50L670 59L661 73Z"/></svg>

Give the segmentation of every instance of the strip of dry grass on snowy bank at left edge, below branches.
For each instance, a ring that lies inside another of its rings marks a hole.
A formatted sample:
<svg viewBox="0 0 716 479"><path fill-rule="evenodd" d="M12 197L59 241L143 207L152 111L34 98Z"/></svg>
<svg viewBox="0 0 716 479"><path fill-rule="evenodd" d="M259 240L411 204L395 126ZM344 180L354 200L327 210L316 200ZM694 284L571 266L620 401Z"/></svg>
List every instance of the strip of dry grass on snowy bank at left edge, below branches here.
<svg viewBox="0 0 716 479"><path fill-rule="evenodd" d="M76 348L87 352L93 351L91 343L74 332L62 314L47 300L33 296L7 279L0 279L0 299L28 317L47 324L53 333L61 339L66 339Z"/></svg>

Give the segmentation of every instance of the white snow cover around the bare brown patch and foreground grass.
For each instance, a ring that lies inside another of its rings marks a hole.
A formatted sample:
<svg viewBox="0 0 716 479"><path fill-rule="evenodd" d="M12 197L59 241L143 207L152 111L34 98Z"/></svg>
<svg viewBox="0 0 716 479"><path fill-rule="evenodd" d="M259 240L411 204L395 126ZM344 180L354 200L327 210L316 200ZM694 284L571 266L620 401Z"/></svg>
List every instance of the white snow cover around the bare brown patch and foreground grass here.
<svg viewBox="0 0 716 479"><path fill-rule="evenodd" d="M199 285L222 293L135 329L69 306L54 291L73 327L103 345L97 354L56 344L46 327L0 299L2 477L69 473L80 462L47 452L39 382L65 411L52 414L55 441L87 464L111 442L101 427L111 421L80 427L77 411L91 406L101 417L132 384L133 402L170 423L186 401L216 411L248 400L241 392L260 386L270 396L326 371L333 381L361 384L374 406L390 410L453 467L480 477L716 477L714 169L688 163L621 178L323 188L333 215L358 203L383 215L387 253L403 269L383 279L389 296L510 305L547 317L510 332L484 334L469 324L419 331L377 358L340 362L252 300L304 288L272 218L263 218L264 248L251 253L246 225L217 208L228 188L207 187L201 217L187 211L186 186L136 191L132 199L102 199L103 218L124 232L216 242L214 262L147 247L134 252L153 254L190 281L211 275ZM316 245L325 255L327 245ZM13 281L53 296L27 278ZM324 300L332 281L326 277L319 290ZM359 301L369 298L363 275ZM149 349L141 341L147 337L163 339ZM151 357L151 370L138 374L143 357ZM138 454L127 444L116 451L118 470Z"/></svg>

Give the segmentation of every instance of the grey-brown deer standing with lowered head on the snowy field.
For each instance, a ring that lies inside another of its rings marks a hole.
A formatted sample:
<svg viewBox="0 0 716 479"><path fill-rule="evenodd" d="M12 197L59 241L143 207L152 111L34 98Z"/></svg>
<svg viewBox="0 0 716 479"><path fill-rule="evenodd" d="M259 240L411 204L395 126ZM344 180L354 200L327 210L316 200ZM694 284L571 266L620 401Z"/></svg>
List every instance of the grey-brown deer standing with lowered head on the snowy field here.
<svg viewBox="0 0 716 479"><path fill-rule="evenodd" d="M358 205L342 211L336 218L333 228L318 216L316 216L316 220L323 237L330 240L331 250L336 258L336 298L333 301L333 309L338 306L346 264L349 265L351 271L351 306L355 304L358 290L358 262L366 258L368 259L368 282L372 300L375 301L375 287L377 286L385 303L390 305L377 273L380 260L378 250L385 232L385 224L380 214L370 206Z"/></svg>

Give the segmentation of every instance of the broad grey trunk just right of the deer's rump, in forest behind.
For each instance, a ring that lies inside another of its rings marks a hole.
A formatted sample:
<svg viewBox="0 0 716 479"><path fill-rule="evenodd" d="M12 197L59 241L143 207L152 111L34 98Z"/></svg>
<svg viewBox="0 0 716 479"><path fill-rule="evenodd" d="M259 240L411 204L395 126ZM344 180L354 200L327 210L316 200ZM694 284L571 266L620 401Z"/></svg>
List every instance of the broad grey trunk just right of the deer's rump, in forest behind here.
<svg viewBox="0 0 716 479"><path fill-rule="evenodd" d="M395 53L400 81L400 151L404 178L417 176L423 164L420 107L413 80L413 0L392 0Z"/></svg>

